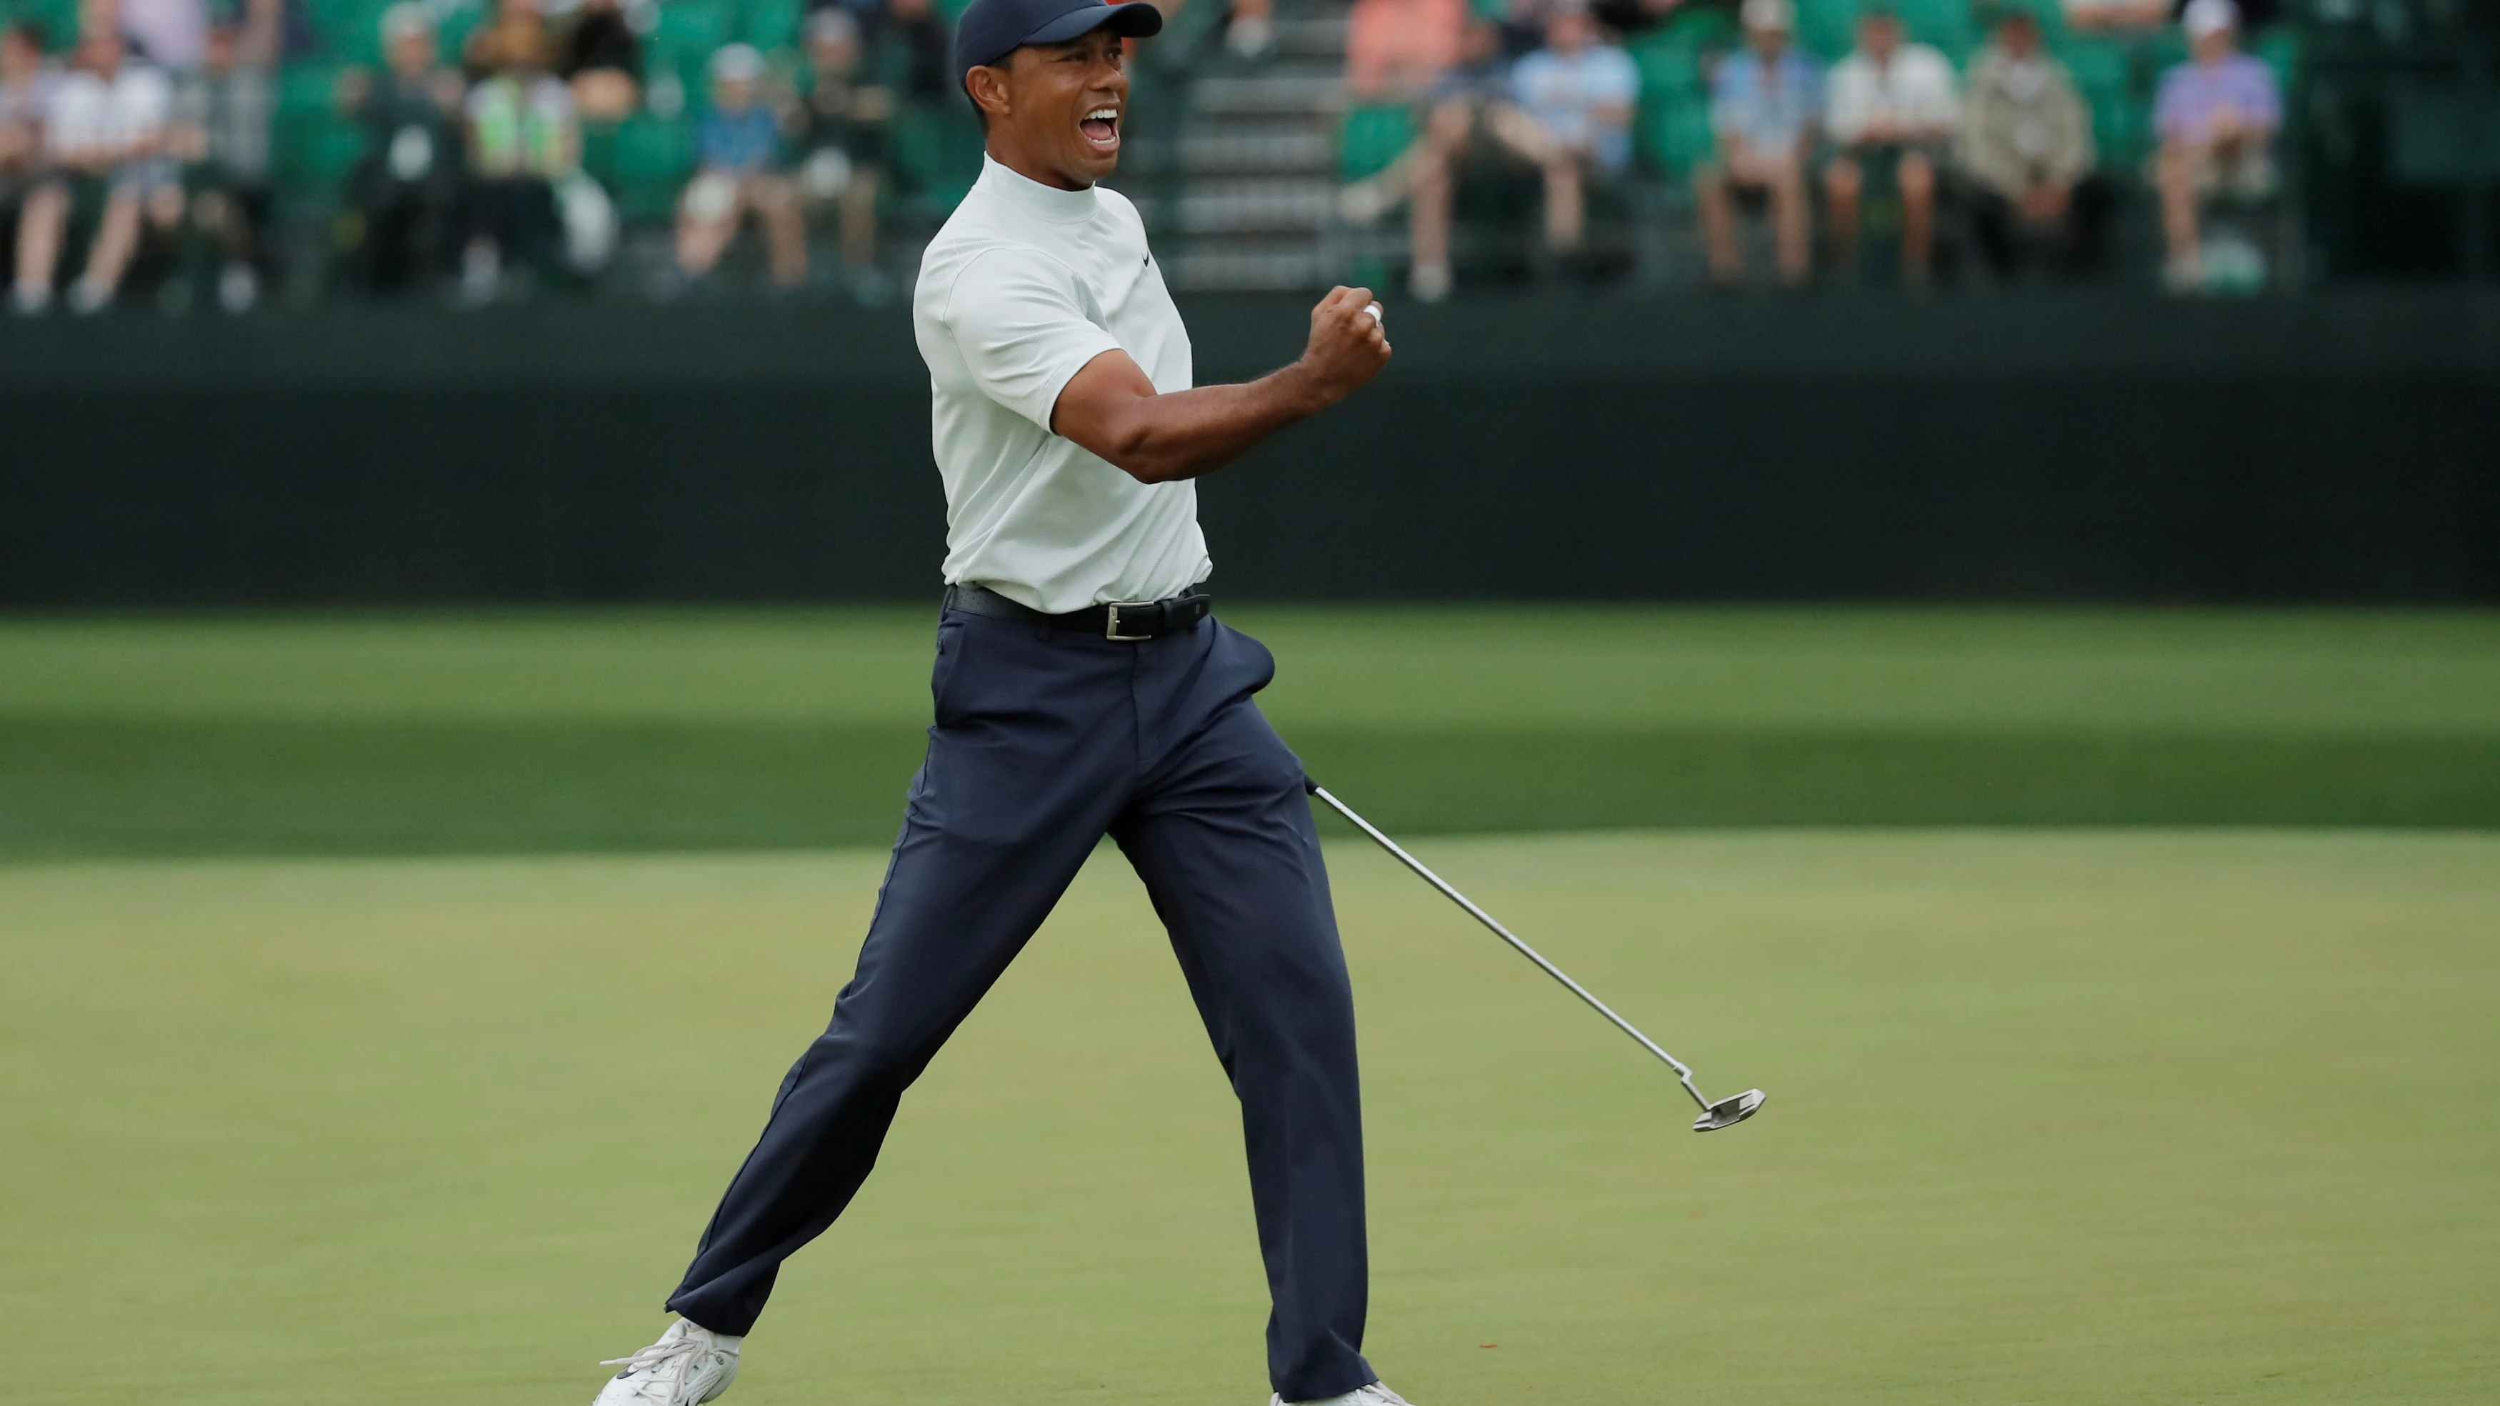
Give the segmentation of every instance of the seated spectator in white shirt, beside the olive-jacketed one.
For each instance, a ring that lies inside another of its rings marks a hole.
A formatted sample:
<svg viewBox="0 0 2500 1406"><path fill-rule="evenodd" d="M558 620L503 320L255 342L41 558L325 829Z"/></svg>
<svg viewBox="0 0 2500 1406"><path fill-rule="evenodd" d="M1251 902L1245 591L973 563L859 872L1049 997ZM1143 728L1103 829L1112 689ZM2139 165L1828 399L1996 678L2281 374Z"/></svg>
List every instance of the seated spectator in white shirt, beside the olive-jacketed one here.
<svg viewBox="0 0 2500 1406"><path fill-rule="evenodd" d="M1938 172L1962 115L1952 65L1928 45L1902 42L1900 15L1878 0L1858 17L1858 47L1832 65L1828 92L1822 125L1840 155L1822 167L1822 195L1840 265L1858 262L1868 180L1890 177L1900 192L1902 280L1928 282Z"/></svg>

